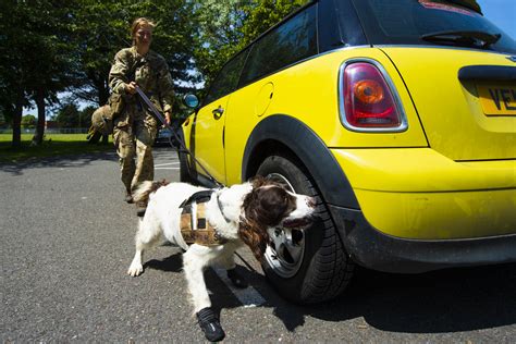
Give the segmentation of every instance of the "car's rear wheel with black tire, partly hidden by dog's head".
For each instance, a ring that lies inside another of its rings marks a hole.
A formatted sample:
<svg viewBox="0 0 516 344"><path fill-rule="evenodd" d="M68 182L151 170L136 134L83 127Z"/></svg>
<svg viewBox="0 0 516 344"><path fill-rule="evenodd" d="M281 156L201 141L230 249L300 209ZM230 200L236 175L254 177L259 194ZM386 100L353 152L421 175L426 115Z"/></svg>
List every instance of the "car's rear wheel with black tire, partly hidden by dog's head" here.
<svg viewBox="0 0 516 344"><path fill-rule="evenodd" d="M296 193L315 197L319 218L304 232L293 232L291 242L285 239L284 244L281 244L281 237L285 237L285 232L277 229L271 233L273 241L261 261L268 280L283 297L297 304L319 303L341 294L353 275L355 265L346 254L309 174L300 163L286 156L268 157L257 174L279 182L286 180L287 186ZM294 254L291 255L291 250ZM296 256L297 259L294 258Z"/></svg>

